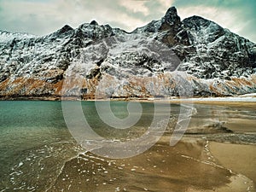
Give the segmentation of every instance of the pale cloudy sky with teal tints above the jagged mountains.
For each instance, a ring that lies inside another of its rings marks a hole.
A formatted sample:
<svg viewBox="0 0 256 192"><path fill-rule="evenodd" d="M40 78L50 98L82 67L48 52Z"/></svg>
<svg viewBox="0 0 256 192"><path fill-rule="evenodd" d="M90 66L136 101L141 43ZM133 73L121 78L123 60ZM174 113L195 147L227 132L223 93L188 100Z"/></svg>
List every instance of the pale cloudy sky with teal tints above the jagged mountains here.
<svg viewBox="0 0 256 192"><path fill-rule="evenodd" d="M96 20L131 32L171 6L182 20L201 15L256 43L256 0L0 0L0 30L45 35Z"/></svg>

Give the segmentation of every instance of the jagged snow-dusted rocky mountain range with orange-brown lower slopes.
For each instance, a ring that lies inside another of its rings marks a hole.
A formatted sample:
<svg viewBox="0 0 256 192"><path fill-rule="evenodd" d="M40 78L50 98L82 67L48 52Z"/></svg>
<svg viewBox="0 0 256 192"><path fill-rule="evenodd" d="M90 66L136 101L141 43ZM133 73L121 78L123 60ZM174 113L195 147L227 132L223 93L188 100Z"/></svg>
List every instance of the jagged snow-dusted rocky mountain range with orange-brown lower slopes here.
<svg viewBox="0 0 256 192"><path fill-rule="evenodd" d="M233 96L256 91L256 44L177 9L128 33L95 20L0 31L0 96Z"/></svg>

